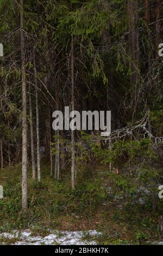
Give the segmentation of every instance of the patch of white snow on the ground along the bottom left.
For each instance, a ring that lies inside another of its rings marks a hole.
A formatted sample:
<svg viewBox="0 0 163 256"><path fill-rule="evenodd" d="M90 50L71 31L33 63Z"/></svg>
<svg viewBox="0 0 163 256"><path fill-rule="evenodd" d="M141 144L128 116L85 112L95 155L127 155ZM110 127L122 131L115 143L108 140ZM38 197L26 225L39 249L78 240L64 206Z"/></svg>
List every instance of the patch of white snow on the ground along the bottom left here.
<svg viewBox="0 0 163 256"><path fill-rule="evenodd" d="M48 236L32 236L30 230L12 231L12 233L0 233L0 238L17 239L12 245L96 245L96 230L89 231L57 231ZM83 239L89 236L89 241Z"/></svg>

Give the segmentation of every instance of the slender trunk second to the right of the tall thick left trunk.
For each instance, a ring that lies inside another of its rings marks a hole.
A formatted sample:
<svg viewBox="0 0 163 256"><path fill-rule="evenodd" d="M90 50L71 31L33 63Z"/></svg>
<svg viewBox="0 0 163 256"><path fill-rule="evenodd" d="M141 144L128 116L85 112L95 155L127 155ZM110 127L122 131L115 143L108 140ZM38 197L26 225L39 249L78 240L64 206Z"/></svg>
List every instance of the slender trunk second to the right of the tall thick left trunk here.
<svg viewBox="0 0 163 256"><path fill-rule="evenodd" d="M35 53L34 53L34 78L35 78L35 88L36 88L37 178L38 178L38 181L41 181L40 135L39 135L39 102L38 102L37 72L36 72L36 63L35 63Z"/></svg>

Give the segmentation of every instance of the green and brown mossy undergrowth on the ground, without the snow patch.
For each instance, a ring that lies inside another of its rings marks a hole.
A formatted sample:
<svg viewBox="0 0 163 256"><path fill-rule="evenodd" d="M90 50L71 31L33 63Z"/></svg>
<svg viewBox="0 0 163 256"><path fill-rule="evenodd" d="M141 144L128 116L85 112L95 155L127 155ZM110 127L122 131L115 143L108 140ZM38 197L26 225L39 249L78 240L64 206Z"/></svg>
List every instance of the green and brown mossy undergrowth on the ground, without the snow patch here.
<svg viewBox="0 0 163 256"><path fill-rule="evenodd" d="M159 168L126 167L121 174L110 174L106 166L87 166L77 175L78 186L71 189L66 171L61 181L42 168L42 181L33 181L29 169L26 216L21 211L21 168L5 168L0 183L4 199L0 201L2 231L30 228L34 234L48 234L48 228L60 230L102 231L100 244L139 244L160 239L162 200L148 180L156 178ZM131 172L131 177L129 177ZM137 183L134 177L139 176ZM84 181L83 181L84 180ZM131 182L134 181L134 182ZM156 184L156 183L155 183Z"/></svg>

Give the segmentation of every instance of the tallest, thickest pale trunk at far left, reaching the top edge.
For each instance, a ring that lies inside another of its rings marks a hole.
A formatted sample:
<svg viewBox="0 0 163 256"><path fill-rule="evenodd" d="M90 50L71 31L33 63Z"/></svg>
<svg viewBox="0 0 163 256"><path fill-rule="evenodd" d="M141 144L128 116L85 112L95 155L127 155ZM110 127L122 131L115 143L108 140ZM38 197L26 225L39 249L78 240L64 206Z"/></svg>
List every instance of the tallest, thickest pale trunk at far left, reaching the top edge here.
<svg viewBox="0 0 163 256"><path fill-rule="evenodd" d="M22 209L28 209L27 190L27 95L25 70L25 44L23 32L23 0L20 0L20 27L21 27L21 69L22 69Z"/></svg>

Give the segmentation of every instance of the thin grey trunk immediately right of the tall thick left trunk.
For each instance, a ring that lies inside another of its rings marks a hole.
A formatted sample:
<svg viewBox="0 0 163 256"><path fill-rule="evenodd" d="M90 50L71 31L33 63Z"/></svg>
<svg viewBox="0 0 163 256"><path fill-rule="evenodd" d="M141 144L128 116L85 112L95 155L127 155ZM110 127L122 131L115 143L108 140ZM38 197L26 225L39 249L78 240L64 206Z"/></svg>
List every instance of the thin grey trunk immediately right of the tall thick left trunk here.
<svg viewBox="0 0 163 256"><path fill-rule="evenodd" d="M31 148L31 156L32 156L32 178L35 179L36 169L35 169L35 155L34 155L33 112L32 112L32 100L31 100L30 91L29 91L29 115L30 115L30 148Z"/></svg>

